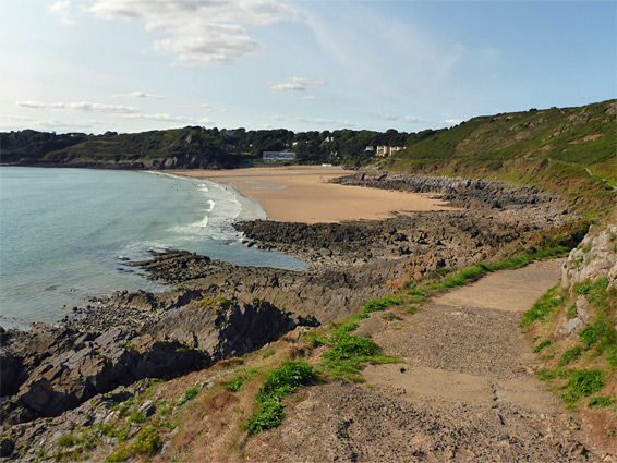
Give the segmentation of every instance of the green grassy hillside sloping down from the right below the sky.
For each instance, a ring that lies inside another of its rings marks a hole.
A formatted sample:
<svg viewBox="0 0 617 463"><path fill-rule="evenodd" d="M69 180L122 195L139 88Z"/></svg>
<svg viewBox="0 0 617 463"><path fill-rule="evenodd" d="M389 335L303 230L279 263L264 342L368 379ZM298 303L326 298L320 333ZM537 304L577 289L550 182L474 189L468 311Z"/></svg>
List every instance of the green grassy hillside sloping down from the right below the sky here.
<svg viewBox="0 0 617 463"><path fill-rule="evenodd" d="M473 118L408 146L394 170L535 184L591 216L615 206L617 100Z"/></svg>

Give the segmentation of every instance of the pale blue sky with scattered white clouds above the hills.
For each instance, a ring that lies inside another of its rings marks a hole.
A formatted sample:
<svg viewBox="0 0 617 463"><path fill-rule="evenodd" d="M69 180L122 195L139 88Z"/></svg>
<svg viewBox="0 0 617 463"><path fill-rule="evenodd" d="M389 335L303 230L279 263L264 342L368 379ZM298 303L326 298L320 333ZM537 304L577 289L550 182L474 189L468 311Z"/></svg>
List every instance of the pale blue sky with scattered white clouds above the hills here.
<svg viewBox="0 0 617 463"><path fill-rule="evenodd" d="M0 131L419 132L617 96L617 2L2 0Z"/></svg>

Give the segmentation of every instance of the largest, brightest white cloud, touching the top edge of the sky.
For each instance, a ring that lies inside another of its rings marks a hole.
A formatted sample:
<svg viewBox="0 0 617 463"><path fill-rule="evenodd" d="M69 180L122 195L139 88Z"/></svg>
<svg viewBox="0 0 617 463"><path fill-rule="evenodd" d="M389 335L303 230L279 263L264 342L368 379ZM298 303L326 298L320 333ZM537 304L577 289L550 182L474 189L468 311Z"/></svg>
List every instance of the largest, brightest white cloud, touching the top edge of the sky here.
<svg viewBox="0 0 617 463"><path fill-rule="evenodd" d="M268 26L299 20L291 7L275 0L96 0L89 12L101 19L137 20L147 31L166 34L154 49L177 56L187 66L227 63L256 54L263 46L246 26Z"/></svg>

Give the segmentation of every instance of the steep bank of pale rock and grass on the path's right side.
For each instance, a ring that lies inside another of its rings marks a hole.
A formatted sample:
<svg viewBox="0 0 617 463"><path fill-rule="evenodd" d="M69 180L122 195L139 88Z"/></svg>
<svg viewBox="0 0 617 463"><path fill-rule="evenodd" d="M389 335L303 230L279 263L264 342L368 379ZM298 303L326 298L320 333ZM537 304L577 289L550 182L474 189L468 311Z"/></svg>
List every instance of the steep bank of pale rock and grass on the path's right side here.
<svg viewBox="0 0 617 463"><path fill-rule="evenodd" d="M539 376L577 413L595 446L610 452L617 448L615 215L610 223L590 229L561 272L560 285L534 305L540 315L529 337L539 356Z"/></svg>

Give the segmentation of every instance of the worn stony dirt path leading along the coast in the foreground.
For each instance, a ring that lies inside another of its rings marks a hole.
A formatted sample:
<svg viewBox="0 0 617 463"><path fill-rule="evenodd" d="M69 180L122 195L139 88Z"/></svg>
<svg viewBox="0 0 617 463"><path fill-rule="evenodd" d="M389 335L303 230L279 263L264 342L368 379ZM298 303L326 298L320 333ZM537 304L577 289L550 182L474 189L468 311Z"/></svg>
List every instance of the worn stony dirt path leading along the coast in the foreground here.
<svg viewBox="0 0 617 463"><path fill-rule="evenodd" d="M518 328L561 264L493 273L414 315L392 312L401 320L373 314L354 333L404 363L367 367L365 385L308 388L247 450L268 461L593 461Z"/></svg>

